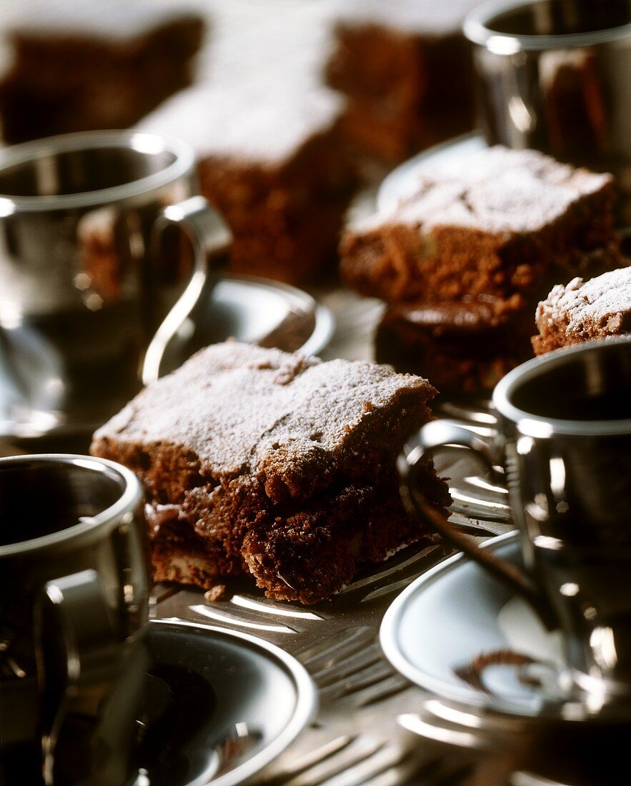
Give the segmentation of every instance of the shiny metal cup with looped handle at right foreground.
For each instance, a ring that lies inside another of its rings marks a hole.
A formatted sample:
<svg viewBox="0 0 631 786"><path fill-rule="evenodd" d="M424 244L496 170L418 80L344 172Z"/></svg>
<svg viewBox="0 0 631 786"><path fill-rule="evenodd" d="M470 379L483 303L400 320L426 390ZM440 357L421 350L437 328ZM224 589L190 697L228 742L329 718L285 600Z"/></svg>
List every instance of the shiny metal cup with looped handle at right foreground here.
<svg viewBox="0 0 631 786"><path fill-rule="evenodd" d="M574 685L631 701L631 337L534 358L493 391L497 436L421 428L399 461L410 509L558 626ZM456 533L416 490L438 446L465 446L508 487L524 571ZM499 472L497 467L503 468Z"/></svg>

